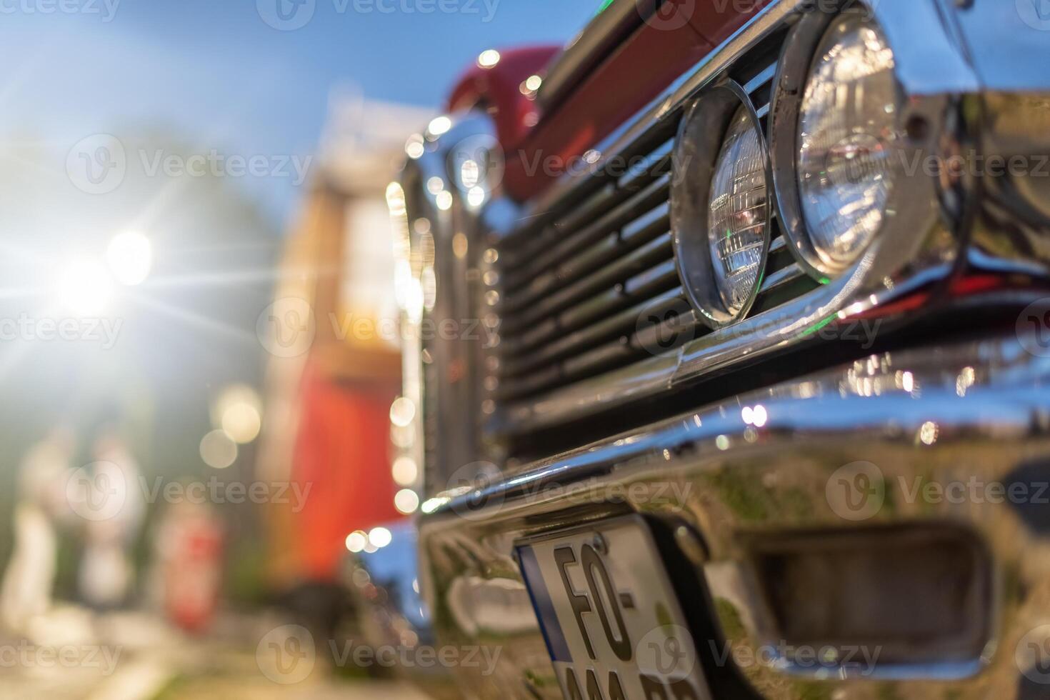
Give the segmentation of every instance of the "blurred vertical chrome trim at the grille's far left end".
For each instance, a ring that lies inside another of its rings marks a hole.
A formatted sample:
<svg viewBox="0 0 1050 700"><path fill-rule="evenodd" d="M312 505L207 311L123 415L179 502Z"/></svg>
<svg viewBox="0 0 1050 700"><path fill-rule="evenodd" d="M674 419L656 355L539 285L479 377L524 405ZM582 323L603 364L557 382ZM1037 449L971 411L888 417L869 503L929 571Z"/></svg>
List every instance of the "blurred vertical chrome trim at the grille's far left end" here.
<svg viewBox="0 0 1050 700"><path fill-rule="evenodd" d="M502 160L485 114L436 119L423 146L399 178L405 205L398 213L411 241L404 395L417 403L414 455L427 467L426 494L457 478L469 482L470 465L486 459L485 372L499 335L485 301L491 263L481 212L501 194Z"/></svg>

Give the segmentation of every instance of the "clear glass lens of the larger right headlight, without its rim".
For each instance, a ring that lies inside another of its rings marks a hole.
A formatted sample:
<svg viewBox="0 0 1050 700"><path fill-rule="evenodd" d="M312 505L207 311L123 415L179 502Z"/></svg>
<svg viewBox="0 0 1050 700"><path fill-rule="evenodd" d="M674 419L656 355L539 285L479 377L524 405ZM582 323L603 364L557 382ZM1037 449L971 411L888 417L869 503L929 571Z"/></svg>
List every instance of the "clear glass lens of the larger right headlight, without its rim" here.
<svg viewBox="0 0 1050 700"><path fill-rule="evenodd" d="M894 52L881 29L842 17L817 49L799 116L798 190L810 239L842 270L876 236L899 134Z"/></svg>

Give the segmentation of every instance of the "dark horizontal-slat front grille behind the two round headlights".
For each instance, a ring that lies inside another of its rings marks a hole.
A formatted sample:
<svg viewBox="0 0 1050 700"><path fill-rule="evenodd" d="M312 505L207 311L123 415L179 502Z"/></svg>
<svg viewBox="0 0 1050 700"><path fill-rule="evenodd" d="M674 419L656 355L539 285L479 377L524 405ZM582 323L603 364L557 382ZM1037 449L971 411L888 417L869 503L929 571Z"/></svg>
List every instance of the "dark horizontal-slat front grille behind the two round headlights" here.
<svg viewBox="0 0 1050 700"><path fill-rule="evenodd" d="M774 72L775 63L766 62L737 77L763 129ZM664 121L637 140L633 153L622 154L625 174L595 172L585 194L505 240L497 401L527 400L651 357L638 335L644 313L666 315L672 327L665 335L679 339L663 351L709 333L686 300L671 243L671 152L679 120ZM776 221L773 236L751 315L813 287Z"/></svg>

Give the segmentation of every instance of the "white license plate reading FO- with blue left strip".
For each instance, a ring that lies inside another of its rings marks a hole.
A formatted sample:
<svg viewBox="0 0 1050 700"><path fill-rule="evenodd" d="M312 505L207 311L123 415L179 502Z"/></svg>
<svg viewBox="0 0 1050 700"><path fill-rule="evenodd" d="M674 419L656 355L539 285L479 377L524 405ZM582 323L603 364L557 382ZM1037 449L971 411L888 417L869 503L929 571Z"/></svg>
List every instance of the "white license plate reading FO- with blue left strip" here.
<svg viewBox="0 0 1050 700"><path fill-rule="evenodd" d="M640 516L520 543L568 700L710 700L689 624Z"/></svg>

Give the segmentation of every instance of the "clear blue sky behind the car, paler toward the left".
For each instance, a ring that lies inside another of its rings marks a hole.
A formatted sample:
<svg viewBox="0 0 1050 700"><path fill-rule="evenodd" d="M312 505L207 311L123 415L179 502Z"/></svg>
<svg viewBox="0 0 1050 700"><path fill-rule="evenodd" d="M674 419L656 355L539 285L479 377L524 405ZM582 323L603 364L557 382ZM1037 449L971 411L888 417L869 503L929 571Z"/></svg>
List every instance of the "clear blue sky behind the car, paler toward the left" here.
<svg viewBox="0 0 1050 700"><path fill-rule="evenodd" d="M310 153L333 87L437 107L481 50L562 44L601 4L299 0L311 20L278 30L264 21L276 1L0 0L0 136L68 149L159 128L201 149ZM274 196L287 217L294 193Z"/></svg>

